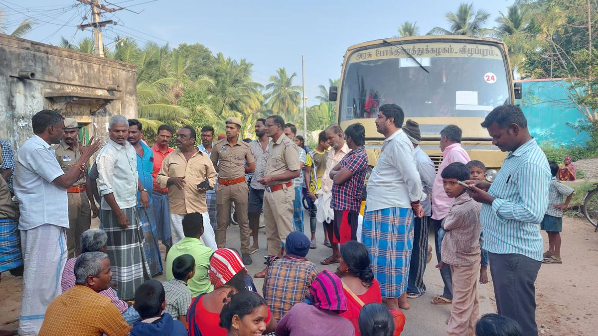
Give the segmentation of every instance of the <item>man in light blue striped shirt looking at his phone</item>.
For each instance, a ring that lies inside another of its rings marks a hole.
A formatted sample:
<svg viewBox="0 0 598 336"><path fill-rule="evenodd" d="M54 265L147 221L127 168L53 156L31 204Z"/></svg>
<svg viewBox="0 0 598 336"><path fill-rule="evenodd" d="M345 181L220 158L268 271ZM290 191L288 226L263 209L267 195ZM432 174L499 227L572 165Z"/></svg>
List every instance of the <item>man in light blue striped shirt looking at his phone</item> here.
<svg viewBox="0 0 598 336"><path fill-rule="evenodd" d="M494 145L509 152L492 186L484 181L467 182L469 195L483 203L480 222L496 307L499 314L516 320L524 335L538 335L533 283L542 264L539 223L548 206L550 167L518 106L498 106L481 126Z"/></svg>

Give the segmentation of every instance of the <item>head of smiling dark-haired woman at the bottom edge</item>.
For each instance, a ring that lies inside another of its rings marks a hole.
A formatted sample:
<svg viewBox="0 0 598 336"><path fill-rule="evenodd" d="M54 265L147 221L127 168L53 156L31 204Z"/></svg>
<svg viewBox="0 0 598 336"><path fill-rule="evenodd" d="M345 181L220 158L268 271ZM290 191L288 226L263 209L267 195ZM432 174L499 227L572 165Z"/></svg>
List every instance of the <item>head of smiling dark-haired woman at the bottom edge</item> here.
<svg viewBox="0 0 598 336"><path fill-rule="evenodd" d="M222 307L220 326L228 330L227 336L262 335L268 316L264 298L254 292L238 292Z"/></svg>

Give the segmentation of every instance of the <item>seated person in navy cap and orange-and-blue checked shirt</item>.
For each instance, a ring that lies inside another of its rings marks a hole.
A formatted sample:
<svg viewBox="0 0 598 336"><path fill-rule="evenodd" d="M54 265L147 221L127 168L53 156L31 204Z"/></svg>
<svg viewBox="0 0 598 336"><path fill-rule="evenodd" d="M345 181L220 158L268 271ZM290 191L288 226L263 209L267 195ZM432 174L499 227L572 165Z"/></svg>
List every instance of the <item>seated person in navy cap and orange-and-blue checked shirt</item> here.
<svg viewBox="0 0 598 336"><path fill-rule="evenodd" d="M303 302L318 274L316 265L307 260L310 240L300 231L286 236L285 256L266 267L263 293L276 320L282 319L295 304Z"/></svg>

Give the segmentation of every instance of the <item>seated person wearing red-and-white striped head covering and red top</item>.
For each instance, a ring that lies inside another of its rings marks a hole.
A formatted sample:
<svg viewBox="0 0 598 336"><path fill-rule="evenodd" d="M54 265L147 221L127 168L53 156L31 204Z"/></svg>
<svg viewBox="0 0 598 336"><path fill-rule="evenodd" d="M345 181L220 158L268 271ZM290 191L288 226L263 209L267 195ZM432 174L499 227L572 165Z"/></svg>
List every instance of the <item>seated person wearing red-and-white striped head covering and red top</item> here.
<svg viewBox="0 0 598 336"><path fill-rule="evenodd" d="M214 286L212 292L193 298L187 312L189 336L226 336L228 331L220 326L220 313L225 303L239 293L245 292L247 270L239 255L231 249L217 249L210 258L209 277ZM276 320L270 309L266 321L266 332L276 328Z"/></svg>

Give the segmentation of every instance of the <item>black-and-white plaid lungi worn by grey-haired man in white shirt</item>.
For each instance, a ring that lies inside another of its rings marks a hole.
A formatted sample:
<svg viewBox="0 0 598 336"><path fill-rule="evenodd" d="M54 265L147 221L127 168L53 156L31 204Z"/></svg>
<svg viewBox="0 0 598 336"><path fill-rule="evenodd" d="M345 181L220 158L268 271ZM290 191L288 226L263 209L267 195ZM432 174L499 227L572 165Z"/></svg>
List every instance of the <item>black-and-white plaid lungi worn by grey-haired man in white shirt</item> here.
<svg viewBox="0 0 598 336"><path fill-rule="evenodd" d="M143 248L144 234L137 207L122 209L129 218L129 227L118 225L114 211L101 210L102 227L108 234L108 258L112 266L112 279L117 283L118 297L133 300L135 289L151 279Z"/></svg>

